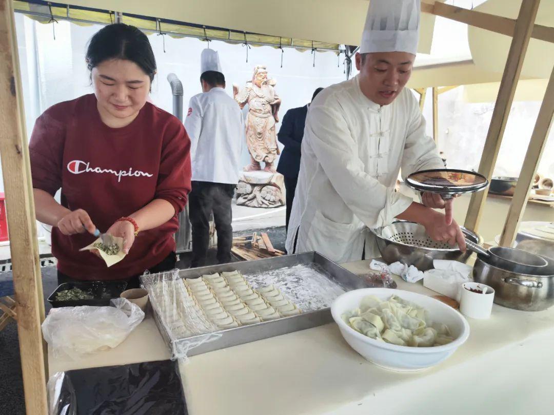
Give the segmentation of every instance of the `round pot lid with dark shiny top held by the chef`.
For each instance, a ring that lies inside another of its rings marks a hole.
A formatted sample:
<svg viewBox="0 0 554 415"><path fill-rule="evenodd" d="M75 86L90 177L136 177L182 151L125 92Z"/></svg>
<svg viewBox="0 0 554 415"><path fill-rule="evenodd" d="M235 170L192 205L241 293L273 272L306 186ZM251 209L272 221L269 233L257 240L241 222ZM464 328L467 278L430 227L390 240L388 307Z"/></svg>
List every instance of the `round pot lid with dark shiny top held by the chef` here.
<svg viewBox="0 0 554 415"><path fill-rule="evenodd" d="M468 170L434 169L410 174L406 184L418 191L453 196L484 190L489 180L482 174Z"/></svg>

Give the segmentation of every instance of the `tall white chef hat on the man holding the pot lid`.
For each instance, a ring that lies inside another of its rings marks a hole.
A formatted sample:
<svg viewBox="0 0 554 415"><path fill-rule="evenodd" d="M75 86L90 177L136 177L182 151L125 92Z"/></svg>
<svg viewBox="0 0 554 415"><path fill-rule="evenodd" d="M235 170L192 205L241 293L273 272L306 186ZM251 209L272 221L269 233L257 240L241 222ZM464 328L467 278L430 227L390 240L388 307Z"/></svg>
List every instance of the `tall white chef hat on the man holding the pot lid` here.
<svg viewBox="0 0 554 415"><path fill-rule="evenodd" d="M370 0L360 53L409 52L419 40L420 0Z"/></svg>

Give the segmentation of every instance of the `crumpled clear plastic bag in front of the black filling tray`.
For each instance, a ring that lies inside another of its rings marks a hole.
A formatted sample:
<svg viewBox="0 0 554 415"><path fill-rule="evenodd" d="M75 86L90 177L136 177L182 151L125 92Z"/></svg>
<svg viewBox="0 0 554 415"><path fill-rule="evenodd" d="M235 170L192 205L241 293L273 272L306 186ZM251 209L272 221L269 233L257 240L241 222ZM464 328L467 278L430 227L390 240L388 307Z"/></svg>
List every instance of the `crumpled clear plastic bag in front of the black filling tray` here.
<svg viewBox="0 0 554 415"><path fill-rule="evenodd" d="M54 356L79 359L124 341L144 319L144 312L125 298L111 300L113 307L60 307L50 310L42 333Z"/></svg>

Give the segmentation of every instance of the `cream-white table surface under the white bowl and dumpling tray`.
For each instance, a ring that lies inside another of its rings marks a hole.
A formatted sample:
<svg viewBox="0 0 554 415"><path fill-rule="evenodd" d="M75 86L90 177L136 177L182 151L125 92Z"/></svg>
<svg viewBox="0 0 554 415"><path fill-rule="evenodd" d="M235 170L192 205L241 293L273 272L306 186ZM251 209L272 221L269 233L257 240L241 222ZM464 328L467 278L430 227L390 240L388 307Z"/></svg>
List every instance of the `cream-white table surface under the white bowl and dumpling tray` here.
<svg viewBox="0 0 554 415"><path fill-rule="evenodd" d="M369 263L342 265L362 274ZM453 356L413 373L372 365L334 323L193 356L179 363L189 414L553 414L554 308L494 305L490 319L468 321L469 339ZM49 362L54 373L169 357L149 315L115 349L78 361L50 354Z"/></svg>

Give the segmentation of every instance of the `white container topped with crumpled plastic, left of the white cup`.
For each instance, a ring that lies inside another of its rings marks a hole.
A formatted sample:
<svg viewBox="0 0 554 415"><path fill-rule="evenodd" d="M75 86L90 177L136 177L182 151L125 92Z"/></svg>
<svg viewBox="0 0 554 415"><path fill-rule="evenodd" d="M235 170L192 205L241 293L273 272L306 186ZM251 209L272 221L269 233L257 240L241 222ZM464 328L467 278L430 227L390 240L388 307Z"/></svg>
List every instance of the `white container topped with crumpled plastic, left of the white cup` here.
<svg viewBox="0 0 554 415"><path fill-rule="evenodd" d="M434 260L435 269L425 271L423 286L460 301L461 284L469 281L471 267L458 261Z"/></svg>

